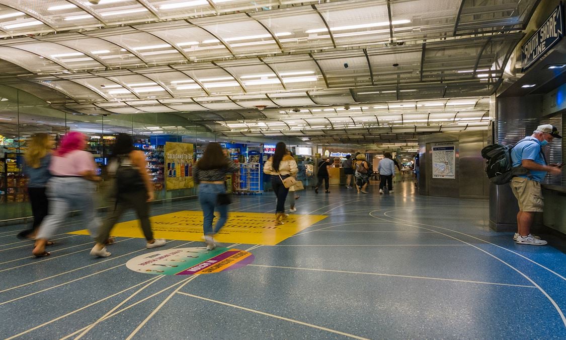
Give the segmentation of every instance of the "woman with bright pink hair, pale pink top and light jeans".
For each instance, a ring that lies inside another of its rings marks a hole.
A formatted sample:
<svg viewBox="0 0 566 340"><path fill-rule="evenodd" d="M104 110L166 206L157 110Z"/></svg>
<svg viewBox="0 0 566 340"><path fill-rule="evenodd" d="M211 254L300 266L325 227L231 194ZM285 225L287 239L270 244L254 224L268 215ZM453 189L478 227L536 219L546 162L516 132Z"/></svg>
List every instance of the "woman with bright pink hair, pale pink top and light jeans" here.
<svg viewBox="0 0 566 340"><path fill-rule="evenodd" d="M52 156L49 171L53 177L47 189L49 213L39 227L32 252L37 257L49 255L45 251L47 240L55 234L72 207L82 211L91 236L98 233L100 222L96 217L94 193L100 177L96 176L92 154L84 150L86 146L85 135L71 131L63 137Z"/></svg>

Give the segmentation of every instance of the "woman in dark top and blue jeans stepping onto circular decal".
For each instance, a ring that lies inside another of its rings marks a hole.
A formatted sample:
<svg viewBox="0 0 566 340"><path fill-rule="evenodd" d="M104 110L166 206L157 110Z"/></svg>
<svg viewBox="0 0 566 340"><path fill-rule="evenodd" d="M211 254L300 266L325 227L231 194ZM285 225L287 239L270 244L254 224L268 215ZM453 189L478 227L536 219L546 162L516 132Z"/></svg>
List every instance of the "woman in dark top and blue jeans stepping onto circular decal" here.
<svg viewBox="0 0 566 340"><path fill-rule="evenodd" d="M195 184L199 184L199 202L203 209L204 240L207 250L212 250L216 248L214 235L228 220L228 204L222 202L222 197L226 194L226 174L237 172L239 168L222 152L220 144L211 142L205 148L203 158L196 162L193 169L193 179ZM220 218L213 229L215 209L220 213Z"/></svg>

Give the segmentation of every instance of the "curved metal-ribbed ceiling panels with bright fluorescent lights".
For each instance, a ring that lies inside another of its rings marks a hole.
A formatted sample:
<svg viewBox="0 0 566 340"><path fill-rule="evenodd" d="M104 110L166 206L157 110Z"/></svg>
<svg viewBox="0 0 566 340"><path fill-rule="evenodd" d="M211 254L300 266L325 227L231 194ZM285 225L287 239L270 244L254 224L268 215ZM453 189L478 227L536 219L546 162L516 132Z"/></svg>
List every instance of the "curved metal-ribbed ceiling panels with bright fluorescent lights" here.
<svg viewBox="0 0 566 340"><path fill-rule="evenodd" d="M0 84L68 112L182 114L226 136L469 129L487 124L536 3L0 0ZM474 97L474 113L458 116L453 97Z"/></svg>

